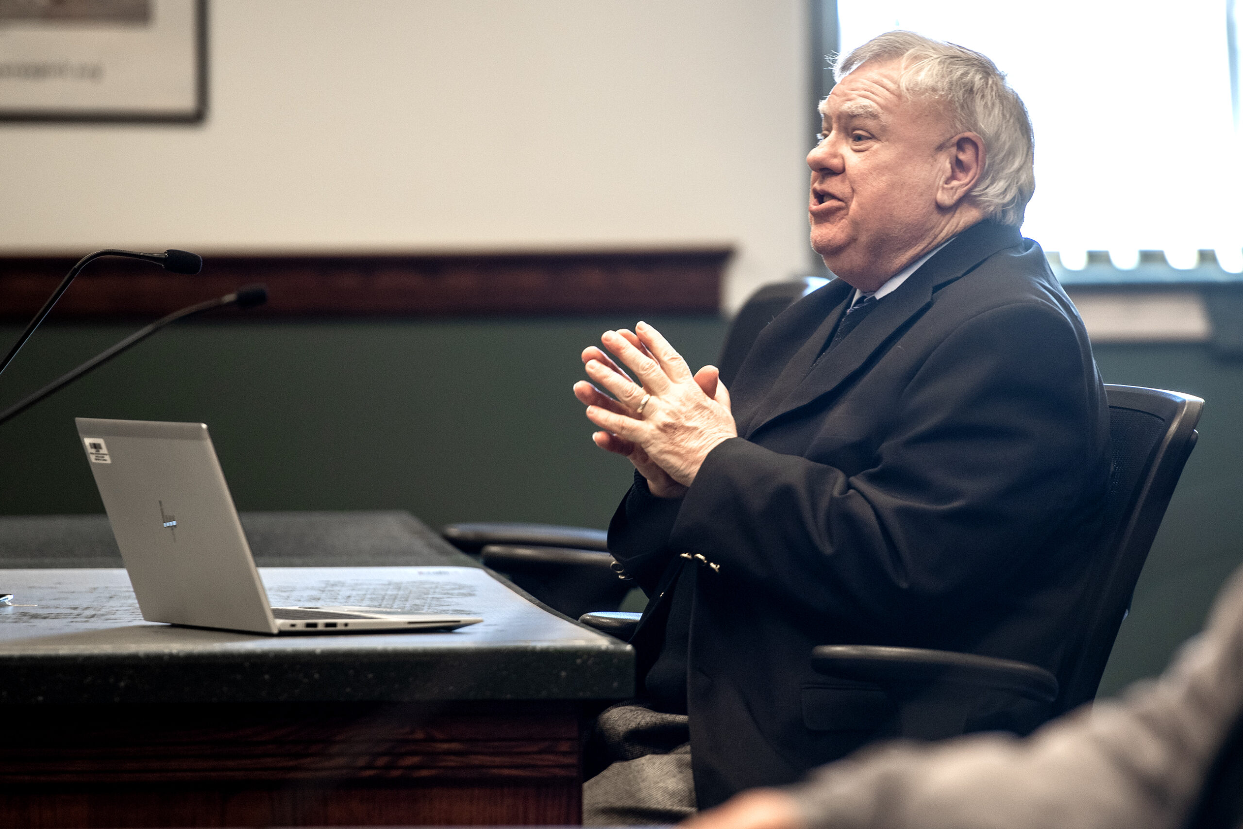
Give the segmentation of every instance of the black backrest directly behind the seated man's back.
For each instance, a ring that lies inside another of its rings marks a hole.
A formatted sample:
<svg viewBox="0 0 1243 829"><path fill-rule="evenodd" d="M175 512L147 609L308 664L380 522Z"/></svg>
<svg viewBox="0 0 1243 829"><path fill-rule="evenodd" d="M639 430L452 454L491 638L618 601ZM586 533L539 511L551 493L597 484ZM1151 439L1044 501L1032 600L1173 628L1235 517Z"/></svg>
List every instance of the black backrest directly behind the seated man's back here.
<svg viewBox="0 0 1243 829"><path fill-rule="evenodd" d="M1134 385L1106 385L1105 393L1112 471L1103 531L1093 552L1093 587L1081 600L1084 624L1078 649L1059 676L1054 716L1096 696L1144 561L1196 446L1196 424L1204 405L1190 394Z"/></svg>

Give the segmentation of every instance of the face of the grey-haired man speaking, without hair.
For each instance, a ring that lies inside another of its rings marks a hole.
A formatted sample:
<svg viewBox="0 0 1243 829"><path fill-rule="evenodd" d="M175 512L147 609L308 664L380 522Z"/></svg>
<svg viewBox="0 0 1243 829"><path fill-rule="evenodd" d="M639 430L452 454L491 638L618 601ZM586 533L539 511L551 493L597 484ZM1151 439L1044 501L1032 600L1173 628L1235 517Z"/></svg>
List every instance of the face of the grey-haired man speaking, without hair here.
<svg viewBox="0 0 1243 829"><path fill-rule="evenodd" d="M927 252L947 224L937 209L951 126L930 102L905 98L899 63L864 63L824 106L812 168L812 247L843 280L874 291Z"/></svg>

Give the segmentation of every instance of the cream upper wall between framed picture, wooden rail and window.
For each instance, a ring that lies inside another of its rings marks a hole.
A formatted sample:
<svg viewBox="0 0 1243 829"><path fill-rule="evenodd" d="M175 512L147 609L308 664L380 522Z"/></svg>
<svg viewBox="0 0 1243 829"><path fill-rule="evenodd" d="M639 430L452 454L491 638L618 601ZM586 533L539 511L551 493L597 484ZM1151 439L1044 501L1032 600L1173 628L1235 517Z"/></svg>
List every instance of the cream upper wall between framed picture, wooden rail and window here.
<svg viewBox="0 0 1243 829"><path fill-rule="evenodd" d="M800 0L211 0L205 124L0 126L0 252L732 244L807 267Z"/></svg>

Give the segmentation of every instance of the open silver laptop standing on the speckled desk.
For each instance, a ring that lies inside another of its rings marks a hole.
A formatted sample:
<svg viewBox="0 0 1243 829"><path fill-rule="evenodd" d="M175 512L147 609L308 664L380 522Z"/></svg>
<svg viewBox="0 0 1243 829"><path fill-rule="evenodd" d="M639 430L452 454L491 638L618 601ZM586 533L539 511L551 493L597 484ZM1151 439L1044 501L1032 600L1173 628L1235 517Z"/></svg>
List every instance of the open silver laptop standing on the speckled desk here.
<svg viewBox="0 0 1243 829"><path fill-rule="evenodd" d="M77 418L143 619L257 634L452 630L474 616L273 608L201 423Z"/></svg>

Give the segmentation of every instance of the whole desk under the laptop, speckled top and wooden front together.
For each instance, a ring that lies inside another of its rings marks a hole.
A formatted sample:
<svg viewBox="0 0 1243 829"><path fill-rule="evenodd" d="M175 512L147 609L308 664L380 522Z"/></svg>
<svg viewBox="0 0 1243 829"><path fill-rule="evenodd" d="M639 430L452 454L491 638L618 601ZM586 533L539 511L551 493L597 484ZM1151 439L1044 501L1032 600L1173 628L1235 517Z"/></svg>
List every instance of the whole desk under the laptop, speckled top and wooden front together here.
<svg viewBox="0 0 1243 829"><path fill-rule="evenodd" d="M389 567L264 568L273 603L379 595L486 621L295 638L144 623L124 570L63 567L108 563L77 554L97 533L66 522L77 552L37 559L62 567L0 570L17 605L0 609L0 827L579 822L583 725L633 694L628 645L530 603L404 513L266 521L300 554L261 551L244 517L261 567L323 564L341 538L313 531L334 521L388 539L368 556ZM29 566L53 524L0 518L0 564Z"/></svg>

